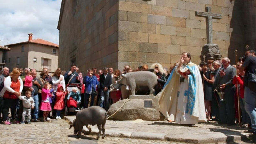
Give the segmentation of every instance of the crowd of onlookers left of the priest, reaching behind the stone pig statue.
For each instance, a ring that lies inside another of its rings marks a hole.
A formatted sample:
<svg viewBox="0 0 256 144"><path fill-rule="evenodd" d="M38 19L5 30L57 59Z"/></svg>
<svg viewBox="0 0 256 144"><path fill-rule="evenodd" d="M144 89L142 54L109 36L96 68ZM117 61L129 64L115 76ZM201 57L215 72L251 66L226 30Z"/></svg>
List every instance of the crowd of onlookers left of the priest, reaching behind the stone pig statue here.
<svg viewBox="0 0 256 144"><path fill-rule="evenodd" d="M126 65L123 71L118 69L114 71L113 68L97 71L97 68L91 68L83 77L76 64L72 64L67 72L58 68L52 76L46 68L40 76L37 76L35 69L13 68L10 73L9 68L5 67L0 72L1 121L9 125L11 123L30 124L31 119L34 122L49 122L51 118L61 119L66 95L67 100L75 100L80 109L99 105L108 110L111 104L129 98L128 85L118 85L117 80L119 76L133 71L152 70L159 77L159 81L162 80L156 87L155 94L157 94L168 78L169 69L162 68L159 63L153 64L151 68L148 69L147 65L135 70ZM170 67L170 71L172 68ZM66 86L73 83L81 83L82 87L66 92ZM121 89L124 90L123 93ZM9 110L11 118L9 118ZM50 112L52 112L51 116Z"/></svg>

